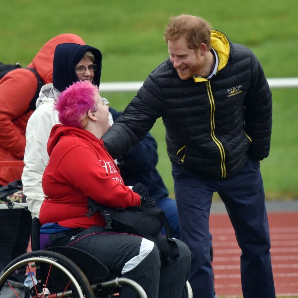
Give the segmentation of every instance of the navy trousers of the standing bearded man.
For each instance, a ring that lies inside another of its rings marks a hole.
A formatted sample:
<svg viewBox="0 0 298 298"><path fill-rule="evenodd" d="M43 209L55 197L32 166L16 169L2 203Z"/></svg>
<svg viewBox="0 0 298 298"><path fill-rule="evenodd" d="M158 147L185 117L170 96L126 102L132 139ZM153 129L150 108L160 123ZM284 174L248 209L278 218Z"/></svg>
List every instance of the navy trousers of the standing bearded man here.
<svg viewBox="0 0 298 298"><path fill-rule="evenodd" d="M209 245L209 214L214 192L225 203L241 249L244 298L274 298L260 163L248 159L238 174L227 179L204 178L181 165L173 165L172 174L182 240L192 252L189 282L194 298L214 297Z"/></svg>

